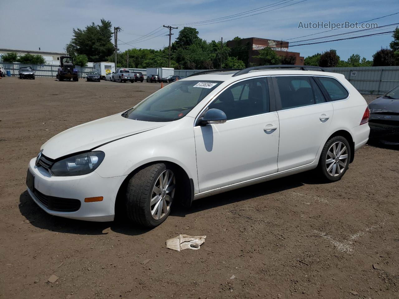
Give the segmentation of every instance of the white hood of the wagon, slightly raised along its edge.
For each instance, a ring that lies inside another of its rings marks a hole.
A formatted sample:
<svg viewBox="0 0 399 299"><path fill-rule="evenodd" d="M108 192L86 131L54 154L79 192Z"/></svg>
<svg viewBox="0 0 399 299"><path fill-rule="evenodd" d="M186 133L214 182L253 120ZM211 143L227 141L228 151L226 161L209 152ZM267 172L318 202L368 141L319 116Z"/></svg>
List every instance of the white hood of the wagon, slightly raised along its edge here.
<svg viewBox="0 0 399 299"><path fill-rule="evenodd" d="M106 143L164 126L164 122L143 122L115 114L65 130L47 140L43 155L57 159L88 151Z"/></svg>

